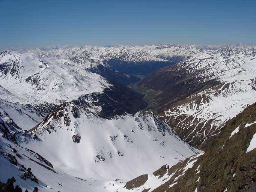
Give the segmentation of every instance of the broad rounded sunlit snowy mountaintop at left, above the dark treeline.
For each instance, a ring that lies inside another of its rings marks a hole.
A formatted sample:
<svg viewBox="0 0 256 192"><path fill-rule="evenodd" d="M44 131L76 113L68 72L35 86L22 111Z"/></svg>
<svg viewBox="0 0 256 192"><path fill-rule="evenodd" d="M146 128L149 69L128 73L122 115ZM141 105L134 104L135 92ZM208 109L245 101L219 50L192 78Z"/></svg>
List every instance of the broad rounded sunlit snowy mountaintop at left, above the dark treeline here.
<svg viewBox="0 0 256 192"><path fill-rule="evenodd" d="M83 94L102 92L109 86L104 78L88 71L86 66L16 52L0 55L0 85L24 101L56 104Z"/></svg>

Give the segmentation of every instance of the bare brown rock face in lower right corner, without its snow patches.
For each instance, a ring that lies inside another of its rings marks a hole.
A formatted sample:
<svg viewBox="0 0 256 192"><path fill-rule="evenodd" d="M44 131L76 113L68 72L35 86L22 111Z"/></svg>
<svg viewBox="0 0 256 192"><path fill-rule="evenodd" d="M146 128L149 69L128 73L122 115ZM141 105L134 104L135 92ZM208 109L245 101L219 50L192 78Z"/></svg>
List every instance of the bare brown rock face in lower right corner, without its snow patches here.
<svg viewBox="0 0 256 192"><path fill-rule="evenodd" d="M256 132L256 103L227 121L217 136L202 145L200 156L184 177L167 191L254 191L256 181L256 150L247 151ZM238 128L238 132L233 131Z"/></svg>

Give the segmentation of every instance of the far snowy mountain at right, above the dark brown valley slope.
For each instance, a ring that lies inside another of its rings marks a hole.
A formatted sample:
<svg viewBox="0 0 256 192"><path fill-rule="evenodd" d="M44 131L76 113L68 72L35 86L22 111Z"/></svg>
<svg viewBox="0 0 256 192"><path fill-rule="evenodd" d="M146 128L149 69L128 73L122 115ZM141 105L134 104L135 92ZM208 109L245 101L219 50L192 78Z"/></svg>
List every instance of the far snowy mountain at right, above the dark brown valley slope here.
<svg viewBox="0 0 256 192"><path fill-rule="evenodd" d="M224 47L207 54L196 55L178 63L178 70L205 79L222 81L250 79L256 72L256 49L232 49Z"/></svg>

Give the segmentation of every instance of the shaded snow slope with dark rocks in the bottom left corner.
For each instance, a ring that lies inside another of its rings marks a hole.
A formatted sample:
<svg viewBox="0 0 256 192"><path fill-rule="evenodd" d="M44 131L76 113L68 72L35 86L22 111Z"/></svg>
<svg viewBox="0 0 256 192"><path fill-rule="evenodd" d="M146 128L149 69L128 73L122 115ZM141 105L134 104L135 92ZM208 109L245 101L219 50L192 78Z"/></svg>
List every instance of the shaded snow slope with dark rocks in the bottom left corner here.
<svg viewBox="0 0 256 192"><path fill-rule="evenodd" d="M8 178L15 177L15 185L23 191L70 191L88 192L106 191L108 181L92 178L78 178L56 169L48 160L29 149L23 148L8 139L0 140L0 181L6 182ZM30 169L29 169L30 168ZM25 179L26 178L26 179Z"/></svg>

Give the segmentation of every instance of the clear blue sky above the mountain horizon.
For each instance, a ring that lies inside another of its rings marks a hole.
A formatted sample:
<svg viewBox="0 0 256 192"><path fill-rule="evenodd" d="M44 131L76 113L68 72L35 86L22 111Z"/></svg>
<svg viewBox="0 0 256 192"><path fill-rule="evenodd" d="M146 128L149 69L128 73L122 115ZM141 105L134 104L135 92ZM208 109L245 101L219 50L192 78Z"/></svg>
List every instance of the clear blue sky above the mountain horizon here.
<svg viewBox="0 0 256 192"><path fill-rule="evenodd" d="M0 49L256 43L256 0L0 0Z"/></svg>

